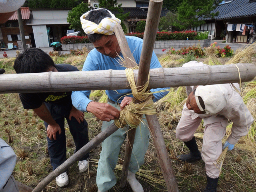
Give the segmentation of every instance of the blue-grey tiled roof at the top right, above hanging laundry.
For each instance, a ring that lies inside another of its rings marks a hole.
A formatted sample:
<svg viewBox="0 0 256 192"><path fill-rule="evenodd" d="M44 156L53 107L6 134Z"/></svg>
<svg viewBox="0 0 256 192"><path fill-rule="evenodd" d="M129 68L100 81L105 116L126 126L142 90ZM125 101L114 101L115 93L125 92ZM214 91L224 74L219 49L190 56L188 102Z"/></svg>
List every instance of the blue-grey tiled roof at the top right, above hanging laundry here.
<svg viewBox="0 0 256 192"><path fill-rule="evenodd" d="M216 20L256 16L256 1L233 0L230 3L219 5L213 12L217 11L219 12L219 15L215 17Z"/></svg>

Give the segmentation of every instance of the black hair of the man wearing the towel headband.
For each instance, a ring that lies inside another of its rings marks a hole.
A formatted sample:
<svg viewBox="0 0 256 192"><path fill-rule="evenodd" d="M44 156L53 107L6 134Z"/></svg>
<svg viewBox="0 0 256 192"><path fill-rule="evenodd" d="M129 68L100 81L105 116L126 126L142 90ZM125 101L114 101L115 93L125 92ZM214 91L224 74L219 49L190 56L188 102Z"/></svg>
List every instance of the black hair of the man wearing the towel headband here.
<svg viewBox="0 0 256 192"><path fill-rule="evenodd" d="M88 21L94 22L96 24L100 24L101 20L106 17L112 17L110 15L110 13L108 12L108 10L94 9L89 12L89 14L86 16L85 19ZM94 34L88 35L88 38L89 38L90 42L94 43L97 40L99 40L100 38L102 38L102 36L104 36L104 34L94 33Z"/></svg>

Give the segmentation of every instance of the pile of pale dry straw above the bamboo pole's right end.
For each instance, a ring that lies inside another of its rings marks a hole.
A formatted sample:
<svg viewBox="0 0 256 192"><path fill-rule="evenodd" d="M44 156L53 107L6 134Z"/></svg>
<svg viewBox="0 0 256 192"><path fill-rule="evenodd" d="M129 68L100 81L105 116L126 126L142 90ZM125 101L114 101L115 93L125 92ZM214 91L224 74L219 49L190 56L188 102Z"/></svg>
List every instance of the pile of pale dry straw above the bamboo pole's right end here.
<svg viewBox="0 0 256 192"><path fill-rule="evenodd" d="M235 56L232 57L228 62L226 62L226 65L251 62L252 58L254 58L254 55L256 54L255 48L256 42L251 44L250 46L238 50Z"/></svg>

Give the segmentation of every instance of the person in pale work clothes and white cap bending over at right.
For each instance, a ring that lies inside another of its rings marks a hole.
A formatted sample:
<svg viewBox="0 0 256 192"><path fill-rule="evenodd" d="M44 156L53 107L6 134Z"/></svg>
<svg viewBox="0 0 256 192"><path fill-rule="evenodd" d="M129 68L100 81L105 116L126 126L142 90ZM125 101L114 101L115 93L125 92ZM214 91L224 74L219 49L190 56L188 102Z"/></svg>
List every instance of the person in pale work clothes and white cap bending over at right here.
<svg viewBox="0 0 256 192"><path fill-rule="evenodd" d="M200 67L202 62L191 61L182 67ZM234 86L240 91L238 83ZM216 160L222 149L232 150L238 140L245 136L254 122L242 97L231 84L206 86L187 86L188 99L182 110L180 122L176 128L176 138L184 141L189 154L177 156L178 160L193 162L201 159L194 132L204 120L202 159L205 162L207 186L204 192L216 192L220 175L220 166ZM230 136L222 147L222 138L226 134L228 120L233 122Z"/></svg>

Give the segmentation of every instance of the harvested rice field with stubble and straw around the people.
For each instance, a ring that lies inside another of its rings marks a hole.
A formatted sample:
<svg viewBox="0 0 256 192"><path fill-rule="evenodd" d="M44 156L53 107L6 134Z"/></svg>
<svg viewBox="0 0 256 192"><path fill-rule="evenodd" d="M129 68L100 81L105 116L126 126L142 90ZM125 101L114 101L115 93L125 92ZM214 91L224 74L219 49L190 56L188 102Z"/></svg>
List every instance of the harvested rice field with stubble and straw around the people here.
<svg viewBox="0 0 256 192"><path fill-rule="evenodd" d="M245 57L245 56L244 56ZM244 58L243 57L243 58ZM52 57L55 63L69 63L77 66L79 70L86 58L84 56L59 56L55 53ZM0 68L6 70L6 74L15 73L12 65L15 58L0 59ZM173 55L159 56L163 67L177 67L188 62L190 58ZM193 59L193 58L192 58ZM225 64L231 58L218 58L220 64ZM256 54L252 53L250 62L256 64ZM209 58L200 58L200 61L208 62ZM211 60L212 61L212 60ZM233 62L234 63L234 62ZM256 79L242 84L244 101L248 109L256 118ZM93 100L100 100L103 91L94 92ZM184 87L175 87L170 93L155 103L158 120L160 122L166 149L169 153L172 168L175 172L180 192L201 192L206 186L206 170L201 160L195 163L183 163L176 160L179 154L188 153L183 142L175 137L175 128L181 116L182 106L186 100ZM92 114L85 113L88 122L89 138L94 138L101 131L102 122ZM227 136L230 133L231 122L227 127ZM201 150L202 125L196 132L196 140ZM256 191L256 124L252 125L249 134L240 139L234 150L227 152L222 166L218 192L255 192ZM18 94L0 94L0 136L14 149L17 155L17 164L13 175L16 180L32 188L42 181L51 171L48 155L46 130L44 124L33 110L24 110L18 98ZM225 136L226 138L226 136ZM223 142L225 141L225 138ZM66 124L67 156L74 153L74 142ZM90 167L88 171L79 173L77 163L73 164L68 175L70 183L65 188L56 186L55 180L44 188L44 192L97 192L96 171L101 146L90 151ZM125 146L122 146L118 166L115 173L117 184L109 192L131 192L130 186L119 188L120 176ZM164 178L152 139L145 156L145 164L140 168L138 180L145 192L164 192Z"/></svg>

